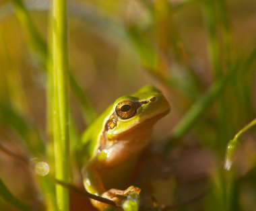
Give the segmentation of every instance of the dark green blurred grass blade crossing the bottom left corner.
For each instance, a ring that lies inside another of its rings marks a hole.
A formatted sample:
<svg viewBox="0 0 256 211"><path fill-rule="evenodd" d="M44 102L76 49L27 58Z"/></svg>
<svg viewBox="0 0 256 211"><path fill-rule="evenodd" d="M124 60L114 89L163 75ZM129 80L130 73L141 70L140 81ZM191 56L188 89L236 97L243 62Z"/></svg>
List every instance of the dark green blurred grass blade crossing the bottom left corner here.
<svg viewBox="0 0 256 211"><path fill-rule="evenodd" d="M22 210L22 211L29 210L28 206L26 206L25 204L20 202L20 200L18 200L17 198L15 198L15 196L13 196L13 194L11 194L11 192L5 186L5 184L3 183L3 181L1 179L0 179L0 197L3 198L9 204L18 208L19 210Z"/></svg>

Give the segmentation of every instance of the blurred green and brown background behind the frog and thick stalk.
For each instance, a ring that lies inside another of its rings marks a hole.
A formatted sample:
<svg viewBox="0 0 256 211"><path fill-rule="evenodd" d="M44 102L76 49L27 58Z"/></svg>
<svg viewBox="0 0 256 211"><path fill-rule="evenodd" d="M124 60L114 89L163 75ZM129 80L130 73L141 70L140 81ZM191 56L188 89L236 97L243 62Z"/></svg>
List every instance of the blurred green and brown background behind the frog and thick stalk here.
<svg viewBox="0 0 256 211"><path fill-rule="evenodd" d="M21 2L0 2L0 178L31 210L44 210L17 155L47 161L50 3ZM174 210L256 210L255 129L224 170L228 141L255 118L256 1L69 1L68 31L71 146L117 97L155 85L172 110L128 181L142 188L141 210L150 196L181 204ZM90 202L71 194L71 210L86 209ZM0 198L0 210L16 209Z"/></svg>

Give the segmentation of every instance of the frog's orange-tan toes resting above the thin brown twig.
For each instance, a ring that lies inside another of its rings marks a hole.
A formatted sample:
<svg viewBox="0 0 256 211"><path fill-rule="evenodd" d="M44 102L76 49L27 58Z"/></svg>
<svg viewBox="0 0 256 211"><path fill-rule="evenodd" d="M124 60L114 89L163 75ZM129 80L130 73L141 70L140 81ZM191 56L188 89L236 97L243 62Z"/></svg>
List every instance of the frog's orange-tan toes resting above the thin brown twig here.
<svg viewBox="0 0 256 211"><path fill-rule="evenodd" d="M125 200L127 196L129 196L130 194L139 194L140 192L141 189L139 187L134 187L133 185L131 185L125 190L115 188L109 189L107 192L104 192L104 194L102 194L102 197L112 200L117 206L121 206L123 200Z"/></svg>

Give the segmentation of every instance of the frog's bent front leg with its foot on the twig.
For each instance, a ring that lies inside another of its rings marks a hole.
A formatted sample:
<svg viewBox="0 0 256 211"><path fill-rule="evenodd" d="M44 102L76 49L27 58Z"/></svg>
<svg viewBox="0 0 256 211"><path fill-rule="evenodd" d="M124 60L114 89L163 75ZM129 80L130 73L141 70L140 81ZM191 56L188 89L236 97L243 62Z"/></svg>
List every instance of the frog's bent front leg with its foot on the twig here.
<svg viewBox="0 0 256 211"><path fill-rule="evenodd" d="M102 157L104 157L104 155L102 155L102 153L100 155L99 153L94 159L88 162L84 169L82 169L84 186L90 194L102 196L103 198L112 200L117 206L121 206L127 196L133 193L139 194L141 189L139 189L139 187L130 186L125 190L115 188L106 190L102 183L99 171L100 166L104 163L104 159L102 159ZM109 206L108 204L104 204L96 200L91 200L91 202L96 208L98 208L98 210L104 210Z"/></svg>

